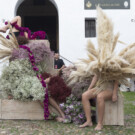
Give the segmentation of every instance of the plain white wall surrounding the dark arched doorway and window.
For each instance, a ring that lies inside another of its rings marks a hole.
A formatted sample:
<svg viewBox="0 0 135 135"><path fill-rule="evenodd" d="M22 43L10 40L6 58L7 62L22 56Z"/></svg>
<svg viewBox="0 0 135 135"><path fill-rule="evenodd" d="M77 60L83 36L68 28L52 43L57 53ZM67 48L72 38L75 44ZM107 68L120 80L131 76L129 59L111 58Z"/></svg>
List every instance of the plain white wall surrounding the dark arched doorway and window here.
<svg viewBox="0 0 135 135"><path fill-rule="evenodd" d="M17 2L23 0L0 0L0 20L11 20L15 15ZM84 10L84 0L51 0L59 14L60 54L70 61L86 57L85 18L96 17L96 10ZM120 32L120 40L125 43L135 42L135 0L131 0L130 10L104 10L114 22L114 32ZM96 38L91 38L97 44ZM123 48L119 44L117 50ZM68 64L68 63L67 63Z"/></svg>

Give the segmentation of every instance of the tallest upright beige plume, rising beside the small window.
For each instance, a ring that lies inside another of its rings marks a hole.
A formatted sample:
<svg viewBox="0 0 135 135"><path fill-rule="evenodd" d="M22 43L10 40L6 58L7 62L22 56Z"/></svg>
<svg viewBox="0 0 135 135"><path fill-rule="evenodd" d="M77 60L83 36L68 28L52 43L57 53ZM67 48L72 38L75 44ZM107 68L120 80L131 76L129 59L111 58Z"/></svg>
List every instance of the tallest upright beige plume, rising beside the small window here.
<svg viewBox="0 0 135 135"><path fill-rule="evenodd" d="M97 7L97 35L99 61L102 63L111 54L113 48L113 24L99 6Z"/></svg>

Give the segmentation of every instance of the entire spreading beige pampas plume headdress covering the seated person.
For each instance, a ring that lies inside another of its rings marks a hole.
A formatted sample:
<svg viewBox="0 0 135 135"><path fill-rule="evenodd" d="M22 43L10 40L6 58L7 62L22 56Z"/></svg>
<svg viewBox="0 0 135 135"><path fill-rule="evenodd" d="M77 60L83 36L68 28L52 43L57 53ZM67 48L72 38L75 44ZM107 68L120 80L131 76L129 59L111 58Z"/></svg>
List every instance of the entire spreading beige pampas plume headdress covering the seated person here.
<svg viewBox="0 0 135 135"><path fill-rule="evenodd" d="M127 46L119 54L115 54L119 33L113 34L113 24L100 7L97 7L97 39L98 49L88 41L88 59L81 59L76 65L77 71L71 73L70 81L83 80L92 75L100 76L97 93L105 89L106 82L117 80L128 85L126 78L135 77L135 43Z"/></svg>

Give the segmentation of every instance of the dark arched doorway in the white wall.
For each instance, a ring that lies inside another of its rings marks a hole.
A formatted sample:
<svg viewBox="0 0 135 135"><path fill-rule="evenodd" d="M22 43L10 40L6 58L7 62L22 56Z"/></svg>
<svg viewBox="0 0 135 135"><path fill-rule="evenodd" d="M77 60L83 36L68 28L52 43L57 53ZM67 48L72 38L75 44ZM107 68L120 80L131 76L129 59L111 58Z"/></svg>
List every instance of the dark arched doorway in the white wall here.
<svg viewBox="0 0 135 135"><path fill-rule="evenodd" d="M58 12L49 0L24 0L17 9L22 26L32 32L45 31L52 51L59 51Z"/></svg>

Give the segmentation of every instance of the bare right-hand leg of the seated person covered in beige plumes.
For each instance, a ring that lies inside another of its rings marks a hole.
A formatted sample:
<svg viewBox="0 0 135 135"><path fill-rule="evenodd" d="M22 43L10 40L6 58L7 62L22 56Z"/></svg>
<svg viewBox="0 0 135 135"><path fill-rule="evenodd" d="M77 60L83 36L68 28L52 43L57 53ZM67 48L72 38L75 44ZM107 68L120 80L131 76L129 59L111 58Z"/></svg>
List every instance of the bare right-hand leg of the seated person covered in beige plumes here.
<svg viewBox="0 0 135 135"><path fill-rule="evenodd" d="M112 98L112 91L105 90L97 95L97 107L98 107L98 124L95 130L101 130L103 128L103 117L105 110L105 100L110 100Z"/></svg>

